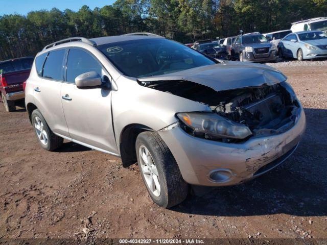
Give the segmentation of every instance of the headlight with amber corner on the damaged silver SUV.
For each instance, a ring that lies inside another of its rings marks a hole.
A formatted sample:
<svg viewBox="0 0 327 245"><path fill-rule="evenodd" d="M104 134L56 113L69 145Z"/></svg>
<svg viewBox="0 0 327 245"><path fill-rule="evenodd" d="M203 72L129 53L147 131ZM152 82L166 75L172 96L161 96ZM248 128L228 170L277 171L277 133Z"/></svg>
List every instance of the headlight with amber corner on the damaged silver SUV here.
<svg viewBox="0 0 327 245"><path fill-rule="evenodd" d="M195 136L205 134L216 138L244 139L252 135L247 126L233 122L216 113L182 112L177 113L177 117L193 130Z"/></svg>

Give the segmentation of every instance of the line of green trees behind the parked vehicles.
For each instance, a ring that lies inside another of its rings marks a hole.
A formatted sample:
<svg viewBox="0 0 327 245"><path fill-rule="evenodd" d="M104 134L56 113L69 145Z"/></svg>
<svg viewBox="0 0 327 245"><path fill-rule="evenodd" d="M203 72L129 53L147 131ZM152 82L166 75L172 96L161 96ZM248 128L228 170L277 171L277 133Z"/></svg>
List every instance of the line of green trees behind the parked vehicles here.
<svg viewBox="0 0 327 245"><path fill-rule="evenodd" d="M118 0L78 11L39 10L0 16L0 60L34 56L67 37L151 32L180 42L289 29L326 16L327 0Z"/></svg>

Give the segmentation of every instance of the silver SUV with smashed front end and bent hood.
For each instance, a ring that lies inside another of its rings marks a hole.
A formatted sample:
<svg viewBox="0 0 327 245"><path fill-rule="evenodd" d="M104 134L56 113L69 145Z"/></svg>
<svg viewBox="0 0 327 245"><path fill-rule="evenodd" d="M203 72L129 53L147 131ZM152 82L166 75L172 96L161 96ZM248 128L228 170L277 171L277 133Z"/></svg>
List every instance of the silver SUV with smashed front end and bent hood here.
<svg viewBox="0 0 327 245"><path fill-rule="evenodd" d="M295 151L306 119L286 80L153 34L71 38L37 54L26 107L42 148L67 139L137 161L152 200L171 207L189 184L239 184Z"/></svg>

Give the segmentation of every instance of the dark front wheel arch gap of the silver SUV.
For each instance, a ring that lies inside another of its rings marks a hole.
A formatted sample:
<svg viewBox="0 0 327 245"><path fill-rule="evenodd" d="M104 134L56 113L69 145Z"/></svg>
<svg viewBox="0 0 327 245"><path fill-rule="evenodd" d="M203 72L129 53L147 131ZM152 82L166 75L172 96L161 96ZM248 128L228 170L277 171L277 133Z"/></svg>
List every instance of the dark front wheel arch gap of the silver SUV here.
<svg viewBox="0 0 327 245"><path fill-rule="evenodd" d="M124 167L128 167L137 161L135 143L137 136L145 131L152 131L152 128L143 124L130 124L124 127L119 138L119 150Z"/></svg>

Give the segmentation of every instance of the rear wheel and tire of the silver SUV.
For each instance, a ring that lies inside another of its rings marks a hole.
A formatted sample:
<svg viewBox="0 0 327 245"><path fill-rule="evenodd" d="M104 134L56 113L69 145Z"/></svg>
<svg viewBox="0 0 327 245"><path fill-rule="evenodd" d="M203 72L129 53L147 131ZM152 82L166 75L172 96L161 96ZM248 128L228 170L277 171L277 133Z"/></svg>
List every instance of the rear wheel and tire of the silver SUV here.
<svg viewBox="0 0 327 245"><path fill-rule="evenodd" d="M62 145L63 138L55 135L51 131L38 109L32 112L31 119L35 135L43 149L46 151L54 151Z"/></svg>

